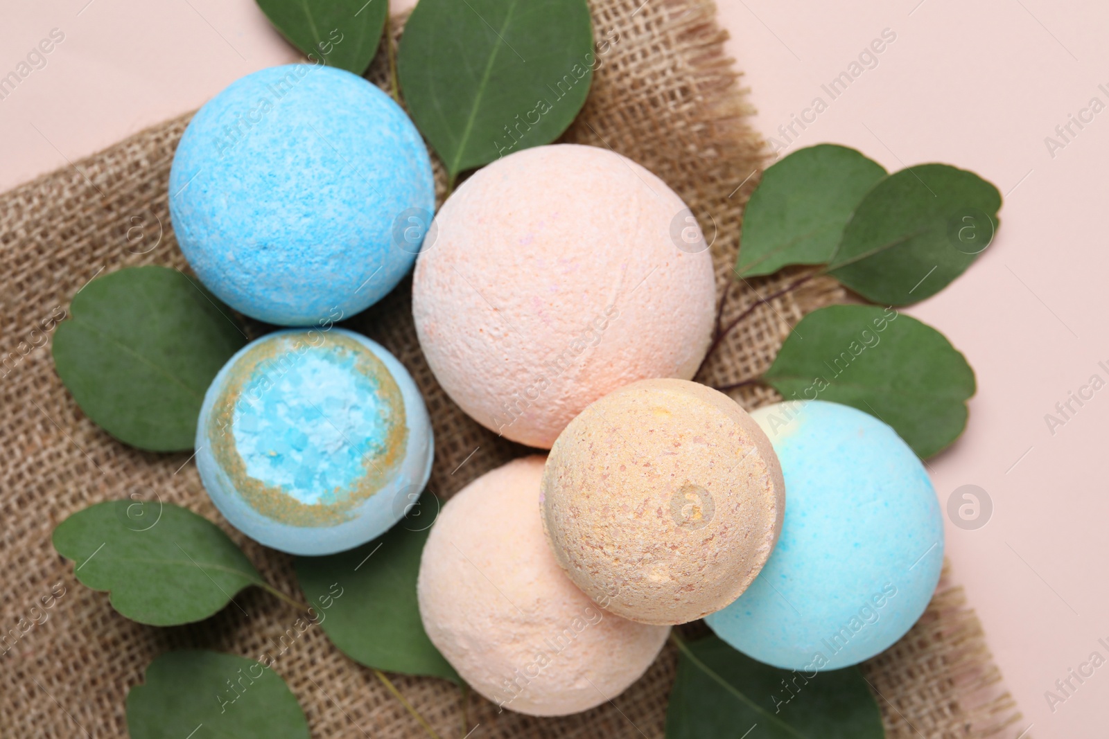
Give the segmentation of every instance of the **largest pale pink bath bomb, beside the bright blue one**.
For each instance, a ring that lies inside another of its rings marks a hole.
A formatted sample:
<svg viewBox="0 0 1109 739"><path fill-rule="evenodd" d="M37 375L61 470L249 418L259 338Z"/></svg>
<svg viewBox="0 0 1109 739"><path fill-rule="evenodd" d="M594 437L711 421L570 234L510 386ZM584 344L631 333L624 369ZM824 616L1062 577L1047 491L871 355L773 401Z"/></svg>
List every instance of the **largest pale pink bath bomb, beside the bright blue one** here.
<svg viewBox="0 0 1109 739"><path fill-rule="evenodd" d="M653 174L596 146L527 148L479 170L436 216L413 315L447 394L550 449L586 406L690 379L714 318L696 220Z"/></svg>

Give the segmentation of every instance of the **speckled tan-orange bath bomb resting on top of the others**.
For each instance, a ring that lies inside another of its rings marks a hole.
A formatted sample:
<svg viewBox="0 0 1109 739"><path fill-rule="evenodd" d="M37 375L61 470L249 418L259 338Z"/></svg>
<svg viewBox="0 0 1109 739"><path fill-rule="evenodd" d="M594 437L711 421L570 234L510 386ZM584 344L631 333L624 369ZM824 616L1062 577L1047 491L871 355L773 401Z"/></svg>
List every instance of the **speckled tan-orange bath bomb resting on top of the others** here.
<svg viewBox="0 0 1109 739"><path fill-rule="evenodd" d="M784 507L766 434L688 380L641 380L592 403L543 472L554 557L591 598L644 624L684 624L739 597Z"/></svg>

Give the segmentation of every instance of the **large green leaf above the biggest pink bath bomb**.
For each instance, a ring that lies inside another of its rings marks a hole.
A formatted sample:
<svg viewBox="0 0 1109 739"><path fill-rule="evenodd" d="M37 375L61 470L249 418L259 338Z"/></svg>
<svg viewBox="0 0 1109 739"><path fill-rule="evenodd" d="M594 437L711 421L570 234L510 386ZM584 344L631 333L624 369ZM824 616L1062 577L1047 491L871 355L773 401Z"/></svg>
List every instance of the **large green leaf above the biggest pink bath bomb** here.
<svg viewBox="0 0 1109 739"><path fill-rule="evenodd" d="M455 177L554 141L586 102L603 53L592 44L586 0L420 0L397 71L413 120Z"/></svg>

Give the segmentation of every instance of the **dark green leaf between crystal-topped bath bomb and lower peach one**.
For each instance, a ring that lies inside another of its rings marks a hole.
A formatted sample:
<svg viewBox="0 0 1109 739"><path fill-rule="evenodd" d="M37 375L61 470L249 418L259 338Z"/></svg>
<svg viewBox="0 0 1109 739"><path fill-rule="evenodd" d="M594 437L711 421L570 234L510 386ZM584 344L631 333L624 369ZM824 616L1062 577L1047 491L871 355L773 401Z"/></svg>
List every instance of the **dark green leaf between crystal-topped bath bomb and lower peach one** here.
<svg viewBox="0 0 1109 739"><path fill-rule="evenodd" d="M378 538L325 557L297 557L296 577L319 626L359 665L389 673L458 677L424 632L416 576L440 502L425 494Z"/></svg>

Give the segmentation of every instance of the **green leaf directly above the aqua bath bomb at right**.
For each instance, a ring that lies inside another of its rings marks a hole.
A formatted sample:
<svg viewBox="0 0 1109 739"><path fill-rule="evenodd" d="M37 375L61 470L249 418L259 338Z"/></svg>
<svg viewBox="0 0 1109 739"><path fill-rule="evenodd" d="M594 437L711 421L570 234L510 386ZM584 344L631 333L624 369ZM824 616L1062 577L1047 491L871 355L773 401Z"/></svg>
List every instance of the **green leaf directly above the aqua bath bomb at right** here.
<svg viewBox="0 0 1109 739"><path fill-rule="evenodd" d="M763 380L786 400L830 400L892 425L922 459L967 422L974 370L943 333L892 308L828 306L805 316Z"/></svg>

